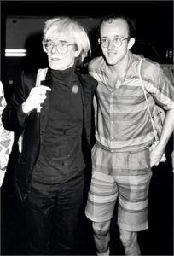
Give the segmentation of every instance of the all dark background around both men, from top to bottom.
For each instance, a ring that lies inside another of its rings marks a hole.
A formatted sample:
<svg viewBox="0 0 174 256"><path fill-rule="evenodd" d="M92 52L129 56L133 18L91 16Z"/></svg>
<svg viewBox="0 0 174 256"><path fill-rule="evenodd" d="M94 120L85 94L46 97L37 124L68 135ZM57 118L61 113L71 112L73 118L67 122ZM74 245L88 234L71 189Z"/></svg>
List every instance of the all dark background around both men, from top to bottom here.
<svg viewBox="0 0 174 256"><path fill-rule="evenodd" d="M41 50L42 26L40 32L26 33L25 48L27 57L5 57L8 44L14 44L19 34L9 35L10 26L18 25L19 19L49 19L58 15L69 15L82 20L90 33L93 54L99 55L96 44L96 29L102 15L124 12L130 15L136 26L136 44L132 52L145 55L161 65L171 67L172 59L166 51L173 52L173 1L1 1L1 79L7 100L13 93L15 84L20 82L23 68L45 67L47 61ZM87 21L86 21L87 20ZM89 20L89 23L88 23ZM24 25L26 26L26 25ZM26 29L27 30L27 29ZM34 27L33 27L34 30ZM13 37L16 37L15 40ZM18 41L17 41L18 42ZM14 45L15 48L16 45ZM167 161L155 167L149 190L148 220L149 229L139 233L142 255L173 255L173 173L171 151L173 138L167 145ZM1 254L23 255L26 253L25 224L22 208L16 200L12 186L14 163L18 150L14 145L9 166L1 189ZM85 196L84 196L85 199ZM117 212L115 212L115 216ZM111 253L124 254L119 241L116 218L111 226ZM79 215L77 254L95 255L91 224L84 217L84 206Z"/></svg>

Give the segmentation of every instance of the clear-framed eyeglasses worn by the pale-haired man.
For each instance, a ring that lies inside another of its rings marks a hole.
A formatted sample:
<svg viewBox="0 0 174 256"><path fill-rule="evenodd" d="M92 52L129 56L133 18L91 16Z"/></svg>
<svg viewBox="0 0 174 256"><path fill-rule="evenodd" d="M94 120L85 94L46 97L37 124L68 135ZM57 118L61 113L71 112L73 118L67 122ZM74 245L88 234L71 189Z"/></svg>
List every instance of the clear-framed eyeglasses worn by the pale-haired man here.
<svg viewBox="0 0 174 256"><path fill-rule="evenodd" d="M53 47L55 46L59 53L66 54L68 47L70 45L74 45L74 44L69 44L69 43L67 43L67 41L59 41L57 44L53 43L52 41L46 41L44 43L44 50L46 52L50 52L53 49Z"/></svg>

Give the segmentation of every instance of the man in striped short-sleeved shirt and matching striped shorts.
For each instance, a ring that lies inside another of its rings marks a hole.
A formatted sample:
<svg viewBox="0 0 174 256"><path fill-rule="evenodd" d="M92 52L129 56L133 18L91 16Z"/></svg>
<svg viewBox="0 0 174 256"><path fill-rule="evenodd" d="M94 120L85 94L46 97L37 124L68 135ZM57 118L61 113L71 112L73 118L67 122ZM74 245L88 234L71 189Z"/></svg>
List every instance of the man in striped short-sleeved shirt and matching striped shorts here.
<svg viewBox="0 0 174 256"><path fill-rule="evenodd" d="M100 256L109 255L109 229L118 198L119 235L125 254L141 254L137 232L148 229L151 166L159 164L174 130L174 87L157 63L142 61L141 56L131 53L134 43L131 20L111 15L100 27L103 56L89 64L98 86L94 101L96 144L85 213L93 222ZM154 113L158 102L167 112L159 143L150 153L154 132L139 72L150 111Z"/></svg>

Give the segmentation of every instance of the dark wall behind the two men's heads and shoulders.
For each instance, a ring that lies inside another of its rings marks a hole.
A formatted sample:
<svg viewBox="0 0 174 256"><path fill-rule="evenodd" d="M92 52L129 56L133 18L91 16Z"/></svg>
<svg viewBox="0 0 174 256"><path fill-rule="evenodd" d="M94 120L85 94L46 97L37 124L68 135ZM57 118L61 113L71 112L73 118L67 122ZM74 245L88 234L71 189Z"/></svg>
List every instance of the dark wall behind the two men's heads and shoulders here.
<svg viewBox="0 0 174 256"><path fill-rule="evenodd" d="M173 51L173 1L1 1L1 73L7 90L20 79L21 68L47 64L41 38L44 20L69 15L81 20L90 33L92 57L101 54L97 27L103 15L125 13L136 26L132 51L167 63ZM27 49L25 58L4 57L4 49ZM172 60L171 60L172 61Z"/></svg>

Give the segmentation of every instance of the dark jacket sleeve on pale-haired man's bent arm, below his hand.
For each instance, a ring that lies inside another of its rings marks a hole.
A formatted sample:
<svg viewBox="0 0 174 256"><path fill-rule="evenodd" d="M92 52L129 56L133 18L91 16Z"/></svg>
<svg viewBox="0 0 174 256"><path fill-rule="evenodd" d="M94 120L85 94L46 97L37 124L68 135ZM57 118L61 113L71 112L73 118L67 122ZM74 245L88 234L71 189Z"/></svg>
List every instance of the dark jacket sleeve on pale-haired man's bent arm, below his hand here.
<svg viewBox="0 0 174 256"><path fill-rule="evenodd" d="M22 112L21 104L26 101L32 89L29 89L27 82L29 82L29 80L25 77L25 74L22 73L21 83L14 88L14 94L3 110L3 126L9 131L20 131L26 125L27 114Z"/></svg>

